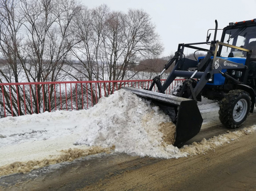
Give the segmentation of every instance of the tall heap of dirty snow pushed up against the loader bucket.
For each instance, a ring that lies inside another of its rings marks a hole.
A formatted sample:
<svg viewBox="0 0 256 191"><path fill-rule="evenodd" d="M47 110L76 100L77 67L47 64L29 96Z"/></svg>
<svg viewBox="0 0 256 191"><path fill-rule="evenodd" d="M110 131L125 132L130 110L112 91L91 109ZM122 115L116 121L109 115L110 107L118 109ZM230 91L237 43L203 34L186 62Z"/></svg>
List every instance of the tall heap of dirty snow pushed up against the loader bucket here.
<svg viewBox="0 0 256 191"><path fill-rule="evenodd" d="M125 90L115 92L90 109L86 127L76 144L102 147L115 146L115 151L127 154L173 158L181 157L173 145L175 126L157 106ZM166 128L172 136L164 131ZM164 128L165 127L165 128ZM167 138L168 137L168 138Z"/></svg>

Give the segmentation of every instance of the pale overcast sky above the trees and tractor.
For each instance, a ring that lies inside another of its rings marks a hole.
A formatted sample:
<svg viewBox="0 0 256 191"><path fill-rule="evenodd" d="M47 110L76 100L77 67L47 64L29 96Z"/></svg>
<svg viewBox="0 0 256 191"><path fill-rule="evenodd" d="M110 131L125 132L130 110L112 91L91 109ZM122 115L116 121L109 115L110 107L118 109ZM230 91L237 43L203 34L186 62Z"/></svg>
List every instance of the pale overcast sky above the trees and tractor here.
<svg viewBox="0 0 256 191"><path fill-rule="evenodd" d="M81 0L89 8L107 4L111 10L143 9L151 16L164 44L163 55L177 50L179 43L204 42L207 31L229 22L256 18L256 0ZM213 36L213 33L212 33ZM218 39L220 40L220 39Z"/></svg>

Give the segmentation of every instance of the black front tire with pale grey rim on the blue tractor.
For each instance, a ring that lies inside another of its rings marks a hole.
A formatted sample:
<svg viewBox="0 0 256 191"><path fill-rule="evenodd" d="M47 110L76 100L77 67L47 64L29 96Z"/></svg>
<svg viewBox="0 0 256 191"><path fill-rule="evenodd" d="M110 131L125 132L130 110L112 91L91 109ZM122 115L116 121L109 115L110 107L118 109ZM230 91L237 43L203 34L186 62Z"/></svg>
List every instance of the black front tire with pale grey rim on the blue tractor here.
<svg viewBox="0 0 256 191"><path fill-rule="evenodd" d="M219 110L220 122L235 129L241 126L251 107L251 97L243 90L232 90L222 99Z"/></svg>

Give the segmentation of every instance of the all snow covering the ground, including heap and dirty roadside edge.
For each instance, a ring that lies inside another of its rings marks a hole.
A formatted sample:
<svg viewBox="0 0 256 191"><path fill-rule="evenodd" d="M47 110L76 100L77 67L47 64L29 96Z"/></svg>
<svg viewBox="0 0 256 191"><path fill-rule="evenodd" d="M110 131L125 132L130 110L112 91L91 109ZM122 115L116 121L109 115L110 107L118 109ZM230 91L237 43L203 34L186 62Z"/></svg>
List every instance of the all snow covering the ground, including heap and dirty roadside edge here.
<svg viewBox="0 0 256 191"><path fill-rule="evenodd" d="M256 130L255 126L248 127L178 149L170 144L172 135L164 131L164 127L170 127L170 118L150 104L120 90L108 98L101 98L88 110L1 118L0 176L100 152L186 157L204 153ZM210 120L211 123L218 121L217 103L203 102L198 107L204 119L202 128L206 128ZM172 128L175 132L175 127Z"/></svg>

